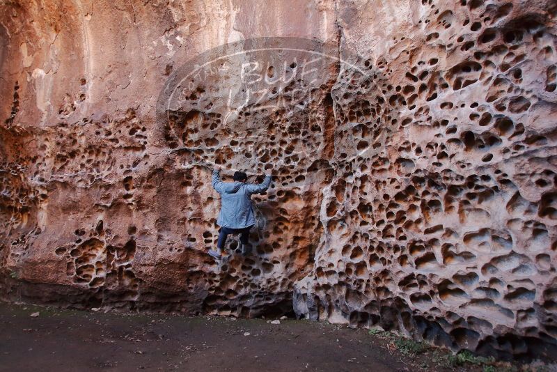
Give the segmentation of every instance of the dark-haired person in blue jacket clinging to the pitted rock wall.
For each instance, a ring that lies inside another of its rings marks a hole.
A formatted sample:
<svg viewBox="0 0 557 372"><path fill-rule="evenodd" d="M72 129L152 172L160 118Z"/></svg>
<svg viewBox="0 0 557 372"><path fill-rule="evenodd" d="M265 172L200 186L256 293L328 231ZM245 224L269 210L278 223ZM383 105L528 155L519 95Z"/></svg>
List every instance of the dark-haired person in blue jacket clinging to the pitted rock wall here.
<svg viewBox="0 0 557 372"><path fill-rule="evenodd" d="M213 188L221 194L221 212L217 224L221 226L217 249L209 249L210 256L219 259L224 255L224 243L228 234L240 234L242 255L251 251L249 245L249 230L256 224L256 217L251 206L251 195L267 191L271 185L271 169L265 171L265 180L260 184L246 183L248 176L241 171L235 171L233 182L225 183L219 176L220 168L213 169Z"/></svg>

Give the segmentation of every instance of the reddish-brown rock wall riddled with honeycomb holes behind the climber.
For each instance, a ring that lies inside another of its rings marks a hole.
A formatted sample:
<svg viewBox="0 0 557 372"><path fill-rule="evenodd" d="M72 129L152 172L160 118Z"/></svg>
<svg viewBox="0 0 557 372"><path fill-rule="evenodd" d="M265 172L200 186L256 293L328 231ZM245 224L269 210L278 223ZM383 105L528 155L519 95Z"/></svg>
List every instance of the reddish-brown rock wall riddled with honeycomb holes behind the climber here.
<svg viewBox="0 0 557 372"><path fill-rule="evenodd" d="M455 350L554 350L556 15L549 0L0 2L2 297L237 316L293 302ZM234 135L214 77L161 120L181 65L262 36L322 40L368 75L324 63L310 102L245 107ZM256 255L207 256L219 201L192 157L274 164Z"/></svg>

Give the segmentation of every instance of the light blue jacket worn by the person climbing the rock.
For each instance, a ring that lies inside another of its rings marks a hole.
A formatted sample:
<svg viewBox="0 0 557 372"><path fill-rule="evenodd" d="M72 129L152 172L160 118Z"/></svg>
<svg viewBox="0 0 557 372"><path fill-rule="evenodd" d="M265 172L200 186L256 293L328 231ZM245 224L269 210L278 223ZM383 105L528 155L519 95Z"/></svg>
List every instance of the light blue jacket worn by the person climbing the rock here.
<svg viewBox="0 0 557 372"><path fill-rule="evenodd" d="M251 208L251 195L267 191L271 185L271 176L265 176L260 185L243 182L224 183L219 171L213 171L213 188L221 194L221 212L217 224L221 227L244 228L256 224L256 217Z"/></svg>

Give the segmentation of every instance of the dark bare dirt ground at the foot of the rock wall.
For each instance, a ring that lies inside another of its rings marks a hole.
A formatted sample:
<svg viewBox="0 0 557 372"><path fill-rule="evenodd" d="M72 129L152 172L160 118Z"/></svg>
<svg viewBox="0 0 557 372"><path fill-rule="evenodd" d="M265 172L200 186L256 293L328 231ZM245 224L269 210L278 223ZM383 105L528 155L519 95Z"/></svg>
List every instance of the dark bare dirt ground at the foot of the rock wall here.
<svg viewBox="0 0 557 372"><path fill-rule="evenodd" d="M367 330L307 320L268 322L0 302L0 371L446 369L404 355Z"/></svg>

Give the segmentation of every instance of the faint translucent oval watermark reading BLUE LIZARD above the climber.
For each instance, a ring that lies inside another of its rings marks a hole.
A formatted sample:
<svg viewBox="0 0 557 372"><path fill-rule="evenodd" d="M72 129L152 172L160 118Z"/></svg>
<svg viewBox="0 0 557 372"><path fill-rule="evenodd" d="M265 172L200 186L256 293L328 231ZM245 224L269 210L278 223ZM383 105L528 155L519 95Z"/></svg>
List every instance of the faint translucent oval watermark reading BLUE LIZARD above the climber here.
<svg viewBox="0 0 557 372"><path fill-rule="evenodd" d="M191 164L260 173L305 173L334 155L338 125L364 125L342 109L348 86L370 89L372 72L338 45L256 38L211 49L173 71L157 102L168 146ZM354 63L354 64L353 64ZM363 155L358 141L344 158Z"/></svg>

